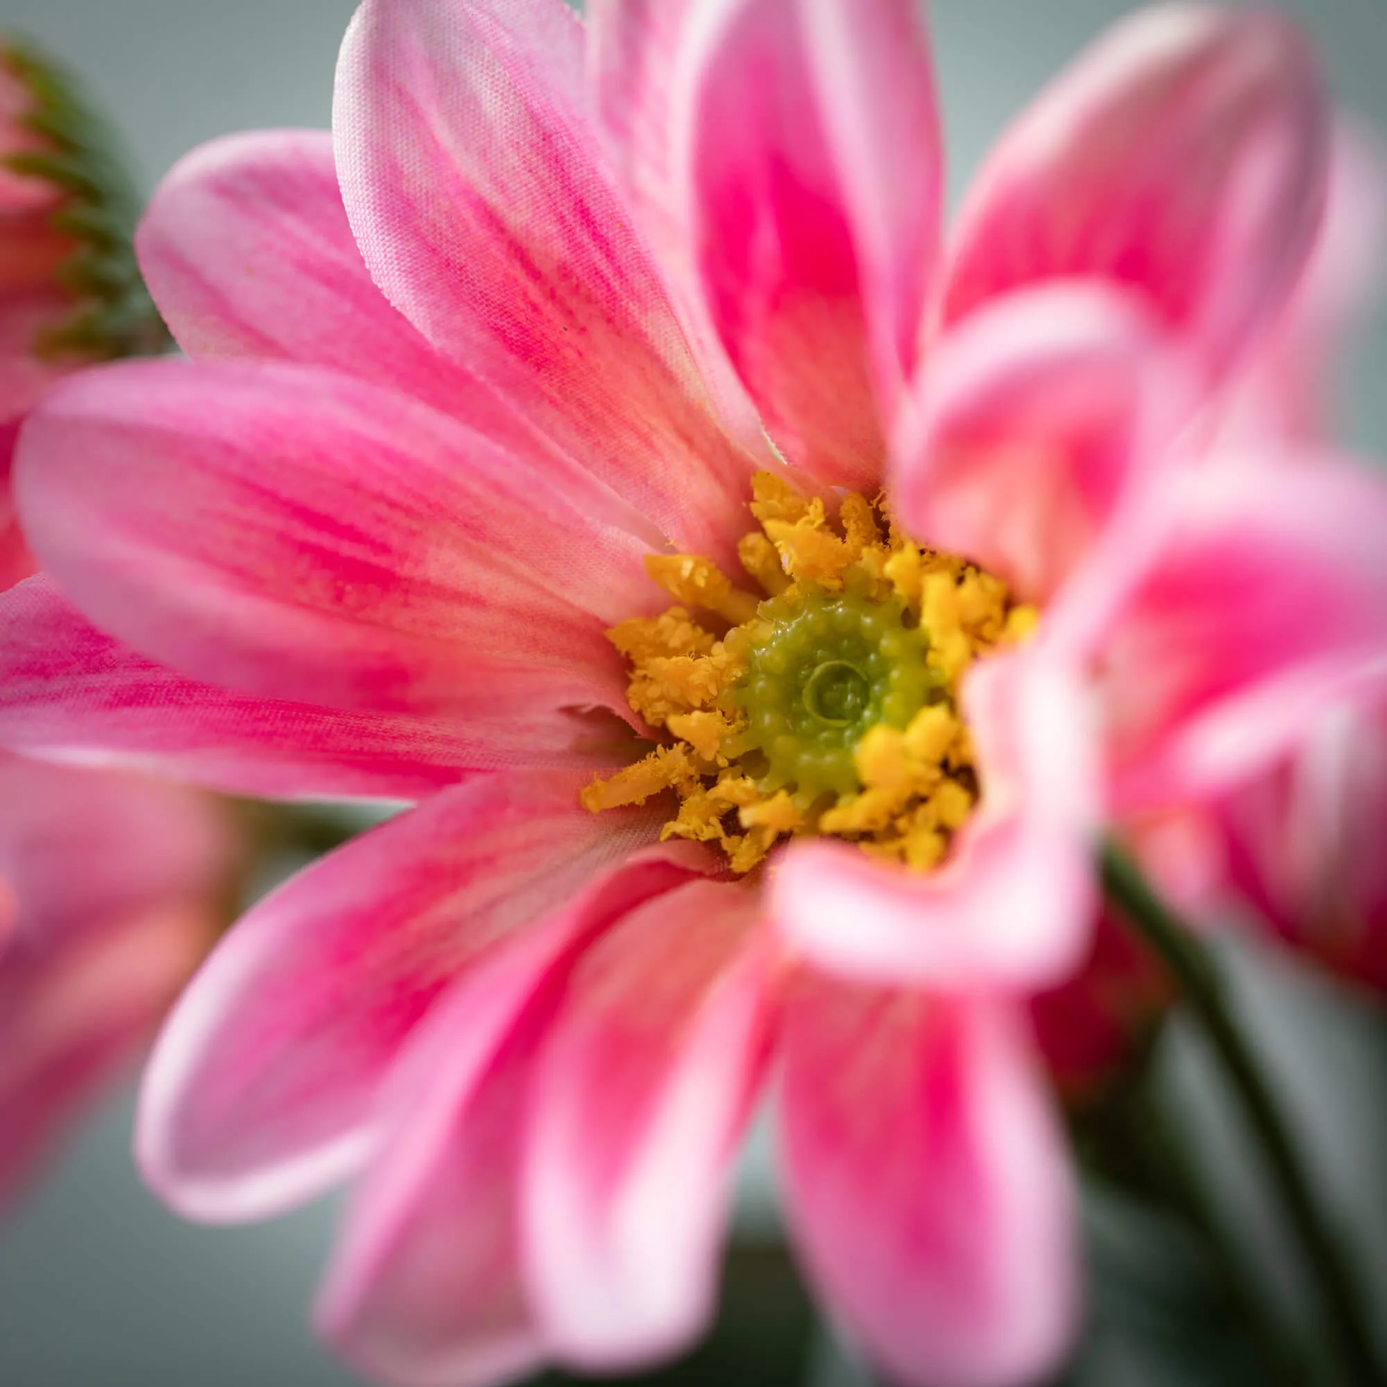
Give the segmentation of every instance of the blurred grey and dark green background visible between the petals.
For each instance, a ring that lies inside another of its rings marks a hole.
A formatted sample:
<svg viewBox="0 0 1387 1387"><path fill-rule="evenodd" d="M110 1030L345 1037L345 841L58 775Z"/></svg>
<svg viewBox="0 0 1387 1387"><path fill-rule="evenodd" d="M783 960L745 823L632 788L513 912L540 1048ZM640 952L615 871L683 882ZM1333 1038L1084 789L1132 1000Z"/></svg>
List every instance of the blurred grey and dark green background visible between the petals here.
<svg viewBox="0 0 1387 1387"><path fill-rule="evenodd" d="M72 67L132 148L146 187L212 136L325 126L333 64L354 0L0 0L0 24ZM1008 121L1094 32L1136 6L1118 0L936 0L936 54L950 186L965 184ZM1387 3L1298 0L1343 104L1387 132ZM1373 315L1344 380L1345 437L1387 458L1387 319ZM1384 537L1387 542L1387 537ZM1237 976L1322 1179L1375 1279L1387 1326L1387 1039L1383 1018L1240 954ZM1268 1313L1294 1318L1275 1230L1216 1082L1179 1028L1162 1043L1160 1087L1198 1133L1193 1178L1232 1211ZM0 1383L11 1387L330 1387L355 1379L311 1341L307 1309L326 1257L330 1207L248 1229L200 1229L143 1190L129 1158L130 1101L117 1099L26 1207L0 1227ZM813 1327L777 1251L764 1155L748 1161L743 1250L720 1337L669 1380L846 1387L850 1363ZM1089 1211L1096 1311L1068 1383L1198 1387L1262 1383L1225 1338L1227 1307L1203 1295L1198 1248L1119 1201ZM748 1345L752 1345L748 1350Z"/></svg>

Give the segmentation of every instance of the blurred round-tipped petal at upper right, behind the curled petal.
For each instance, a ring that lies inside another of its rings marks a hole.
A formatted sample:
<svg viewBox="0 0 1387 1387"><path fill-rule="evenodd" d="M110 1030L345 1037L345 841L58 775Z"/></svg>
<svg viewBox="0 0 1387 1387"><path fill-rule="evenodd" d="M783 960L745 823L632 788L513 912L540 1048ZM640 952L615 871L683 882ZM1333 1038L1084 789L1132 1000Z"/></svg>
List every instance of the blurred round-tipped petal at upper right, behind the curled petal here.
<svg viewBox="0 0 1387 1387"><path fill-rule="evenodd" d="M945 319L1040 279L1112 277L1222 370L1294 287L1327 166L1319 72L1289 19L1142 10L1003 136L961 218Z"/></svg>

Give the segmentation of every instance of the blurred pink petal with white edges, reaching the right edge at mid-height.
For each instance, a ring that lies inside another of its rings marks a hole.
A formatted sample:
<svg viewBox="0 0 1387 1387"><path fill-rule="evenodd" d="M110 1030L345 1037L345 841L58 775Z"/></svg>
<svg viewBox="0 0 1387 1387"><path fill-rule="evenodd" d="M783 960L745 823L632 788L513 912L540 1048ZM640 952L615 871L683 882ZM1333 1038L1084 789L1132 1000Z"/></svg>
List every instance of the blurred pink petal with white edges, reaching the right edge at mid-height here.
<svg viewBox="0 0 1387 1387"><path fill-rule="evenodd" d="M1387 485L1319 456L1172 479L1165 541L1104 649L1115 807L1201 800L1387 666Z"/></svg>

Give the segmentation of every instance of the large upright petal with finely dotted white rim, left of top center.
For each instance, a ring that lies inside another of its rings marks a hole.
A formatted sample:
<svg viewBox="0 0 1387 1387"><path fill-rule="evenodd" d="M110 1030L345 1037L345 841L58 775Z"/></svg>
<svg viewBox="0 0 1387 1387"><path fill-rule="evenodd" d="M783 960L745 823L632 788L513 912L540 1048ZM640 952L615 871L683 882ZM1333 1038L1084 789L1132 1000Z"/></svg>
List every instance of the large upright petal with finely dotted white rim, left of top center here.
<svg viewBox="0 0 1387 1387"><path fill-rule="evenodd" d="M390 301L678 546L728 549L755 463L605 168L562 0L366 0L334 126Z"/></svg>

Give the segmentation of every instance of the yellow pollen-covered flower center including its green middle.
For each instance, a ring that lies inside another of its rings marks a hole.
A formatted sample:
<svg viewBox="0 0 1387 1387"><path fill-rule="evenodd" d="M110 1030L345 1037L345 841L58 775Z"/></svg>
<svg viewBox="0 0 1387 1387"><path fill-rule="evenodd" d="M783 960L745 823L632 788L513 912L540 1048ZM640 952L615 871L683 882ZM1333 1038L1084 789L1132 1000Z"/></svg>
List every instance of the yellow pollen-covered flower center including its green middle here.
<svg viewBox="0 0 1387 1387"><path fill-rule="evenodd" d="M938 865L978 799L960 682L1029 635L1035 608L913 544L882 497L847 492L831 516L759 473L750 509L760 528L738 558L759 594L709 559L646 560L678 605L608 637L631 667L631 707L669 741L588 785L584 806L673 791L663 836L717 843L736 872L802 834Z"/></svg>

